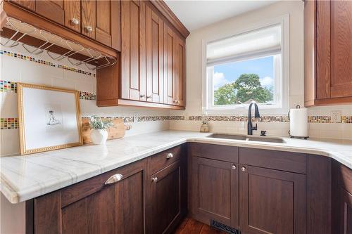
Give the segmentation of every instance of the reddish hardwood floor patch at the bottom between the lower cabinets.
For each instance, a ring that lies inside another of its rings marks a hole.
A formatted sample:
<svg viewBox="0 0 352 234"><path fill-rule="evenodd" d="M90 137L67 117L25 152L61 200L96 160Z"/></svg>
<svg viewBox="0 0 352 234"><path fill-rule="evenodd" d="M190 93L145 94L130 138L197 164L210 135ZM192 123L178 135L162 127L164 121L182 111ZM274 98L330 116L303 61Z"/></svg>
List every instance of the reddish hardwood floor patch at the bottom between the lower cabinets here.
<svg viewBox="0 0 352 234"><path fill-rule="evenodd" d="M226 234L225 232L212 228L204 223L196 221L194 219L186 218L177 230L175 234Z"/></svg>

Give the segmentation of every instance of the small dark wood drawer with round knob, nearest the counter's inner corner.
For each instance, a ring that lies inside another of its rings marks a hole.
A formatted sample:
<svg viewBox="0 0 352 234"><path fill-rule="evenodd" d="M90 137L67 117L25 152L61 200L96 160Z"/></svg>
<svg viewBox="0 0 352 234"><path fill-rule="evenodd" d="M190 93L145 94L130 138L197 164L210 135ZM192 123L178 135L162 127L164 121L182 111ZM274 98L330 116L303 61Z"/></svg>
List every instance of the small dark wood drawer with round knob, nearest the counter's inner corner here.
<svg viewBox="0 0 352 234"><path fill-rule="evenodd" d="M165 150L163 152L159 152L156 155L151 157L151 174L156 173L156 171L160 171L161 169L168 167L168 165L180 160L182 155L182 146L178 145L170 150Z"/></svg>

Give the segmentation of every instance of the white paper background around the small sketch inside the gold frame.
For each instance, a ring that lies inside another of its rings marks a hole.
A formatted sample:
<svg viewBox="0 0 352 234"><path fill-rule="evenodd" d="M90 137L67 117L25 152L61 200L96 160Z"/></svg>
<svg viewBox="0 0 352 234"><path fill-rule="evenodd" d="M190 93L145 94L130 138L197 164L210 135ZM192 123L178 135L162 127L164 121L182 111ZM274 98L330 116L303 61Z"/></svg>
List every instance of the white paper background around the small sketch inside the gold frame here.
<svg viewBox="0 0 352 234"><path fill-rule="evenodd" d="M49 126L50 109L61 124ZM76 115L75 93L23 87L25 150L80 142Z"/></svg>

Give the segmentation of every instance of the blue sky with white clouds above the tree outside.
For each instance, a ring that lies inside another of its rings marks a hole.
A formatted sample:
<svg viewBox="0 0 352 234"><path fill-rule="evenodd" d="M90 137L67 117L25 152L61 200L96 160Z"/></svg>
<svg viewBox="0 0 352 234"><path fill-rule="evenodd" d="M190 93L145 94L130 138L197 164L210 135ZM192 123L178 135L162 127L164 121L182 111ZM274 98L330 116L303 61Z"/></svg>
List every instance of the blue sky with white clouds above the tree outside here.
<svg viewBox="0 0 352 234"><path fill-rule="evenodd" d="M234 82L241 74L258 74L262 86L272 88L274 77L274 58L273 56L245 60L236 63L226 63L214 66L213 84L214 89Z"/></svg>

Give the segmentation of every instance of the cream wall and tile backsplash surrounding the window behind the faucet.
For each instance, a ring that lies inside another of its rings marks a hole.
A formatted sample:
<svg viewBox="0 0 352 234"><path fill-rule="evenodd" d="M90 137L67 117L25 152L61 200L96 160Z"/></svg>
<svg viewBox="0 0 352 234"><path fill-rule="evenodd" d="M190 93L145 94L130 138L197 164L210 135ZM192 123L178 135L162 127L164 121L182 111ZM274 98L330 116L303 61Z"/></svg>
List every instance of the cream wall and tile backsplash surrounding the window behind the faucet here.
<svg viewBox="0 0 352 234"><path fill-rule="evenodd" d="M199 130L202 115L202 41L230 37L236 32L282 15L289 15L289 106L303 106L303 2L280 1L256 11L244 13L213 25L192 31L186 41L187 58L187 105L186 110L170 112L174 117L170 129ZM332 111L341 114L332 123ZM289 119L286 110L279 115L261 110L258 131L268 135L288 136ZM208 116L210 131L246 134L246 116L243 111L232 114ZM329 106L308 109L309 136L315 138L352 138L352 105ZM176 120L177 119L177 120Z"/></svg>

